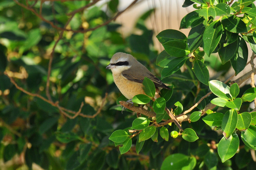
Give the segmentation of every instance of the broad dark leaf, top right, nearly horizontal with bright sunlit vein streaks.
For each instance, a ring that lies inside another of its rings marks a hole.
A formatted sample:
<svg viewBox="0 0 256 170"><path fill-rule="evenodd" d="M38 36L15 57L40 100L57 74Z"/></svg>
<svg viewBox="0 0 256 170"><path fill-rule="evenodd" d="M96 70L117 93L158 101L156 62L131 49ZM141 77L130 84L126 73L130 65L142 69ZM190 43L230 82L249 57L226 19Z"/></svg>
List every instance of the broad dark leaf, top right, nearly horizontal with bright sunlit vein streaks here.
<svg viewBox="0 0 256 170"><path fill-rule="evenodd" d="M231 15L230 17L223 16L221 23L223 27L230 32L247 32L246 24L244 21L235 15Z"/></svg>

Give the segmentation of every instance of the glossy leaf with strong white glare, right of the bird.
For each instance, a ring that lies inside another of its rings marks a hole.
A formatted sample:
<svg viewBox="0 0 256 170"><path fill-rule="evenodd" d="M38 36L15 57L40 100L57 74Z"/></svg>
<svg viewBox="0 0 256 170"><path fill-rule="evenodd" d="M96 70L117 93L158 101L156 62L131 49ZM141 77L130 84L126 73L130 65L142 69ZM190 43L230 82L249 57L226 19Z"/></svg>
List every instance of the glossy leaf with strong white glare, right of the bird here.
<svg viewBox="0 0 256 170"><path fill-rule="evenodd" d="M218 80L211 80L209 81L209 88L216 96L230 100L229 97L226 95L229 94L231 96L229 91L230 88L223 82L220 82Z"/></svg>

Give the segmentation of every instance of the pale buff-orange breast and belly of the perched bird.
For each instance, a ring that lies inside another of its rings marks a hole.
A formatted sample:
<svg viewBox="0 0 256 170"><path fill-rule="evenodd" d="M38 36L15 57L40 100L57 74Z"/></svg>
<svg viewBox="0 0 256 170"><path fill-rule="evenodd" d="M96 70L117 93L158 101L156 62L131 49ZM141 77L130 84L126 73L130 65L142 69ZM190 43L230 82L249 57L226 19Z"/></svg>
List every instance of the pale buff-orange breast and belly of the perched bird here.
<svg viewBox="0 0 256 170"><path fill-rule="evenodd" d="M121 93L127 98L132 99L137 94L145 94L142 83L137 83L126 79L121 73L113 73L114 82Z"/></svg>

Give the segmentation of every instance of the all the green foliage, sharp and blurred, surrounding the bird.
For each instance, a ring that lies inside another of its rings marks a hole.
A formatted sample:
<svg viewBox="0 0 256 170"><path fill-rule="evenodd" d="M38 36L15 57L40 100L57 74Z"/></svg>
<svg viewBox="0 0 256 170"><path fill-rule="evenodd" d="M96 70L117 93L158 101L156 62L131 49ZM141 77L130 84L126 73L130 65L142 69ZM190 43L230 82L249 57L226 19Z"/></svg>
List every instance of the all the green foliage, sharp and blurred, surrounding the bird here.
<svg viewBox="0 0 256 170"><path fill-rule="evenodd" d="M118 0L96 2L0 2L0 169L255 169L254 0L185 0L189 35L163 30L159 55L145 26L154 10L124 38ZM145 78L147 95L125 102L105 70L120 51L171 90L152 101Z"/></svg>

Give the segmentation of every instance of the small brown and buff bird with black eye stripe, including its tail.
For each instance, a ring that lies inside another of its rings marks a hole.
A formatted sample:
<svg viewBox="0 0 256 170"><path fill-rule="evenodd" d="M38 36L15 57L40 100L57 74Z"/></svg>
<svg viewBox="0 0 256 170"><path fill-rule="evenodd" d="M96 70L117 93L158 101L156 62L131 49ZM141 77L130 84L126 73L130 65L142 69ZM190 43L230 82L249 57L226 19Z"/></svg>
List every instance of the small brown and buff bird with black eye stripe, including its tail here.
<svg viewBox="0 0 256 170"><path fill-rule="evenodd" d="M112 71L114 83L128 101L131 101L131 99L137 94L145 94L142 84L145 77L151 79L156 87L155 97L152 99L153 101L160 97L159 88L171 90L131 54L122 52L115 53L106 69L110 69ZM173 114L170 113L170 110L167 107L165 110L178 128L183 130Z"/></svg>

